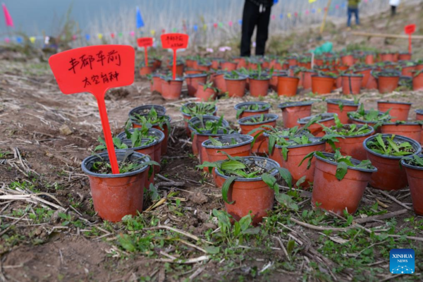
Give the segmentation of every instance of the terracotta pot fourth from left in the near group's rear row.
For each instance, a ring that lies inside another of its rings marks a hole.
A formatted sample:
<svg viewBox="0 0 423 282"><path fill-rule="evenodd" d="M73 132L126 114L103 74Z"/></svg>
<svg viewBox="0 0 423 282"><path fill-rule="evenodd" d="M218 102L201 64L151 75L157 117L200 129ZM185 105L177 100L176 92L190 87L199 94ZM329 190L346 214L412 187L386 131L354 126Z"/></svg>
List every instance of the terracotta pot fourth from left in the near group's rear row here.
<svg viewBox="0 0 423 282"><path fill-rule="evenodd" d="M278 105L278 108L282 110L283 125L286 128L293 128L296 125L300 125L298 120L305 118L312 114L313 102L286 102Z"/></svg>

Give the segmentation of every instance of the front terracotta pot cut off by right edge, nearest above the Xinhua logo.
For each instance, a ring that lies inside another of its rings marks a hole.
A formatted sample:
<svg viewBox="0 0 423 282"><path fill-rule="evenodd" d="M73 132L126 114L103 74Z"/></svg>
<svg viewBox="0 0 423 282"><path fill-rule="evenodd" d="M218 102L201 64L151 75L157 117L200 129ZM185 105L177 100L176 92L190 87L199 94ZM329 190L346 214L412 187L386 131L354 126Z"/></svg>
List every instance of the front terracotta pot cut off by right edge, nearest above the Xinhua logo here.
<svg viewBox="0 0 423 282"><path fill-rule="evenodd" d="M423 155L419 155L423 158ZM405 173L407 173L408 186L410 188L412 207L415 213L423 216L423 168L407 164L405 159L401 160Z"/></svg>

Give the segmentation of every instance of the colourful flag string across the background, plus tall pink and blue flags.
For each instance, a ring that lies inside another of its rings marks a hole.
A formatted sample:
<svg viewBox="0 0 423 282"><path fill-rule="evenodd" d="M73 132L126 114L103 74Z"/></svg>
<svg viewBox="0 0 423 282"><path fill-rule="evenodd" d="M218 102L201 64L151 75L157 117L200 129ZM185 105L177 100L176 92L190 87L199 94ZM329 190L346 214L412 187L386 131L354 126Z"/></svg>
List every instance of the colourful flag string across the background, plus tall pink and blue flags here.
<svg viewBox="0 0 423 282"><path fill-rule="evenodd" d="M318 0L308 0L309 4L313 4L315 2L317 2ZM364 3L367 2L371 2L373 0L364 0ZM277 1L275 0L275 3ZM4 4L2 4L3 6L3 11L4 11L4 17L6 20L6 25L13 27L13 20L11 18L10 13L7 11L7 8ZM329 6L329 11L333 11L333 10L338 10L340 8L346 8L347 5L344 3L342 4L336 4L336 5L331 5ZM272 15L271 16L271 20L283 20L284 18L288 18L288 19L292 19L292 18L299 18L301 16L309 16L310 14L319 14L322 13L323 11L326 11L327 8L309 8L306 9L305 11L296 11L296 12L289 12L289 13L280 13L279 15ZM161 32L161 34L164 34L166 32L185 32L185 33L189 33L189 32L198 32L200 29L202 30L207 30L209 28L214 28L214 29L218 29L223 28L225 26L228 27L235 27L236 24L238 25L242 25L243 24L243 20L228 20L226 22L214 22L214 23L203 23L202 25L183 25L180 28L176 28L173 27L171 30L166 30L164 28L162 28L161 30L149 30L149 34L151 34L153 37L154 35L156 35L158 32ZM144 20L142 19L141 16L141 12L140 12L140 8L137 7L136 8L136 27L137 29L141 28L141 27L145 27L145 23ZM99 32L97 34L85 34L85 35L73 35L72 39L76 40L76 39L85 39L87 42L89 42L92 39L115 39L115 38L121 38L121 37L125 37L125 36L130 36L130 37L135 37L135 30L130 30L130 31L124 31L124 32ZM31 36L28 38L30 40L30 42L32 44L35 44L35 42L37 42L37 40L42 40L42 42L44 44L49 44L50 42L50 37L49 36ZM4 42L9 43L9 42L17 42L17 43L23 43L24 42L24 38L17 36L17 37L4 37Z"/></svg>

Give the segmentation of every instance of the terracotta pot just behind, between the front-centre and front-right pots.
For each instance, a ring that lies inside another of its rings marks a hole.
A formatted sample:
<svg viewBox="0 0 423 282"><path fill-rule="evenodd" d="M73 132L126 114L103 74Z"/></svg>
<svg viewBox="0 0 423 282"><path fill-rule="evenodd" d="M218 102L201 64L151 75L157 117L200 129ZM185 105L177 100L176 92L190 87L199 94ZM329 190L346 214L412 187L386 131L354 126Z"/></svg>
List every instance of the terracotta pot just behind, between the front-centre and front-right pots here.
<svg viewBox="0 0 423 282"><path fill-rule="evenodd" d="M321 138L310 138L309 140L312 141L312 144L288 146L286 160L281 157L281 166L290 171L293 176L293 183L296 183L302 176L305 176L305 182L302 183L303 188L309 188L309 183L314 181L314 164L316 160L314 158L312 159L312 165L309 169L307 169L307 160L303 161L301 166L298 165L307 154L314 151L324 151L326 147L326 143ZM282 147L279 145L275 147L282 154Z"/></svg>

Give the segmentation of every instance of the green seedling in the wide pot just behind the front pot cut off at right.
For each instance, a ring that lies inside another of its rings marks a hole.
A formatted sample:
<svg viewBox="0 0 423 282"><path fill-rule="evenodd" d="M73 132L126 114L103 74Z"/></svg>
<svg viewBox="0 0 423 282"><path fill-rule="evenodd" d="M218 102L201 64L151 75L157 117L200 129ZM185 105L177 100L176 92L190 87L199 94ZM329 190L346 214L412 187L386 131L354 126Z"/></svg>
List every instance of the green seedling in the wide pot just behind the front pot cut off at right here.
<svg viewBox="0 0 423 282"><path fill-rule="evenodd" d="M394 140L395 135L383 138L379 133L375 136L375 141L367 142L367 147L373 152L383 154L385 156L407 156L415 154L415 149L409 142L397 142Z"/></svg>

